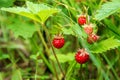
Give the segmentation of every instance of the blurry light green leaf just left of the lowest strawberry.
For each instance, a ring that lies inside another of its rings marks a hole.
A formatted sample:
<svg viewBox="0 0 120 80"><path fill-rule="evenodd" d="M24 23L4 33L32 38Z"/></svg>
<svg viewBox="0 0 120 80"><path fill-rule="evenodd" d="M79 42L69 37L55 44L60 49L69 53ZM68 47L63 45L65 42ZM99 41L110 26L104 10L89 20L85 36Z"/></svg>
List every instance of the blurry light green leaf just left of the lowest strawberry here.
<svg viewBox="0 0 120 80"><path fill-rule="evenodd" d="M74 60L74 54L73 53L69 53L69 54L56 54L58 57L58 60L60 63L65 63L65 62L69 62ZM50 56L50 59L52 59L53 61L56 61L54 55Z"/></svg>

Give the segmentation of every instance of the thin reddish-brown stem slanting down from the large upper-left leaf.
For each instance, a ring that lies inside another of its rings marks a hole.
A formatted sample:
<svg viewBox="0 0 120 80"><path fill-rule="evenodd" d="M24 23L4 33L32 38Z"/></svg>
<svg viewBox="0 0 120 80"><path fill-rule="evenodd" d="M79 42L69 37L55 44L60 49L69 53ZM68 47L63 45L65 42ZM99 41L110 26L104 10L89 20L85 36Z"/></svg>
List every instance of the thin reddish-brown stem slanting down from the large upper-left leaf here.
<svg viewBox="0 0 120 80"><path fill-rule="evenodd" d="M65 74L64 74L64 72L63 72L63 70L62 70L62 67L61 67L61 65L60 65L60 63L59 63L59 60L58 60L57 56L56 56L55 50L54 50L54 48L53 48L53 46L52 46L52 43L51 43L51 40L50 40L50 36L49 36L49 32L48 32L48 30L47 30L47 28L46 28L46 26L45 26L44 24L43 24L42 26L43 26L43 29L44 29L45 32L46 32L47 37L48 37L49 44L50 44L50 46L51 46L51 48L52 48L52 52L53 52L53 55L55 56L55 59L56 59L57 64L58 64L58 67L59 67L59 69L60 69L63 77L65 78Z"/></svg>

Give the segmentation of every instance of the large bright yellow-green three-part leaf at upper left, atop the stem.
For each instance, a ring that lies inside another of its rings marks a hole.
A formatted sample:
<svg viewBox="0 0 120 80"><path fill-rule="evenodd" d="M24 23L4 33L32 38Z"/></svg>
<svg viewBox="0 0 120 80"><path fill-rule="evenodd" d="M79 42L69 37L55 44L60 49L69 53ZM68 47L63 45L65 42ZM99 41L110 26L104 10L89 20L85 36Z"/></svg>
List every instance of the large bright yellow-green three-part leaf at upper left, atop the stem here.
<svg viewBox="0 0 120 80"><path fill-rule="evenodd" d="M13 7L13 8L1 8L1 10L16 13L35 21L44 23L52 14L59 12L58 9L50 8L44 4L34 4L32 2L26 2L27 8Z"/></svg>

